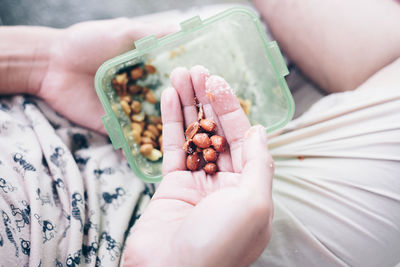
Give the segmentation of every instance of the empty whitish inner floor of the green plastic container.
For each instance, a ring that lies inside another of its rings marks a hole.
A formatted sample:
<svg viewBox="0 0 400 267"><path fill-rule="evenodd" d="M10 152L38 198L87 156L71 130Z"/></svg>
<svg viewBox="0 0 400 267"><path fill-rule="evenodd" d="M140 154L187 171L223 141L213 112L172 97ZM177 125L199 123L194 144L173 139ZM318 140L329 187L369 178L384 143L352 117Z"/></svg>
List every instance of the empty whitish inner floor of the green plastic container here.
<svg viewBox="0 0 400 267"><path fill-rule="evenodd" d="M162 77L173 68L204 65L224 77L235 93L252 102L249 119L267 129L285 121L289 112L277 75L252 17L235 12L167 46L152 50L147 59ZM164 86L169 85L165 79ZM274 127L275 126L275 127Z"/></svg>

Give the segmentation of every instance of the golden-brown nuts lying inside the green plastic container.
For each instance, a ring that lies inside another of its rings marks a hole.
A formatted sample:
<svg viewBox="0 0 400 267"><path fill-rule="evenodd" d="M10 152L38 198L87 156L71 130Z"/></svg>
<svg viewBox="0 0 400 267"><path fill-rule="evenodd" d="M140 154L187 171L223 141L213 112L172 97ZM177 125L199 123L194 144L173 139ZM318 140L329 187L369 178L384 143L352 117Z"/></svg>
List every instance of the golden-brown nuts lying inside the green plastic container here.
<svg viewBox="0 0 400 267"><path fill-rule="evenodd" d="M143 101L159 105L151 89L137 82L154 74L152 65L138 64L123 69L115 75L111 84L120 97L121 107L131 120L132 135L140 145L140 153L151 161L162 157L162 123L160 116L148 115L142 110Z"/></svg>

